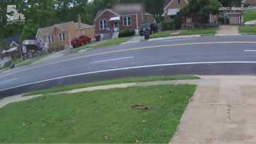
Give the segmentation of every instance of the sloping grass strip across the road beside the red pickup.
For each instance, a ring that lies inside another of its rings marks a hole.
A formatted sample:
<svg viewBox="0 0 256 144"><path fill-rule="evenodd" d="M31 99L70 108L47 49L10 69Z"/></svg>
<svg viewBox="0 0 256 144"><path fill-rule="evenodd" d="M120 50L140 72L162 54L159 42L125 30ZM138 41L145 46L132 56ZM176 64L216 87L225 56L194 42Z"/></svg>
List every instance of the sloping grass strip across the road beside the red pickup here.
<svg viewBox="0 0 256 144"><path fill-rule="evenodd" d="M121 44L122 42L126 42L127 40L129 40L129 38L131 37L113 38L109 40L104 40L102 42L92 42L91 44L83 45L81 47L77 47L76 49L72 49L71 52L78 52L88 48L99 48L99 47L108 47L111 45L118 45L118 44Z"/></svg>

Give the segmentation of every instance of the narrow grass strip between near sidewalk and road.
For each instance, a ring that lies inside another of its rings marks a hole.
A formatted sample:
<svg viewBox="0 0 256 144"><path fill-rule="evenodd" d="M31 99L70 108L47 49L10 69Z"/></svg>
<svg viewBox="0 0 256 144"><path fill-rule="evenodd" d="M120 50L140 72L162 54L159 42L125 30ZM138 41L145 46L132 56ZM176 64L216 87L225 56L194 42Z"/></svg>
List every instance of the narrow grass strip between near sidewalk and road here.
<svg viewBox="0 0 256 144"><path fill-rule="evenodd" d="M94 83L58 86L56 88L50 88L47 90L37 90L37 91L31 92L31 93L28 93L24 96L37 95L37 94L42 94L42 93L61 92L61 91L65 91L65 90L74 90L77 88L86 88L86 87L90 87L90 86L100 86L100 85L107 85L107 84L145 82L145 81L171 81L171 80L177 80L177 79L200 79L200 78L197 76L189 76L189 75L128 77L128 78L123 78L123 79L112 79L112 80L99 81L99 82L94 82Z"/></svg>

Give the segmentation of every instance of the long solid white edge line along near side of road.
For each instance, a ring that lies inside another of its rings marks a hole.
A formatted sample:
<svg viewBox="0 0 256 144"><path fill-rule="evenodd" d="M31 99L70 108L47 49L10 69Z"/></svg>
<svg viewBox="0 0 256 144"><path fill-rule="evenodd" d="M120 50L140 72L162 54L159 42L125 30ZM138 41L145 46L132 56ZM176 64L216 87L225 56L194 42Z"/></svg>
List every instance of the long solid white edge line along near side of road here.
<svg viewBox="0 0 256 144"><path fill-rule="evenodd" d="M36 81L33 83L21 84L19 86L13 86L11 88L4 88L4 89L0 90L0 92L3 92L4 90L10 90L13 88L19 88L22 86L28 86L28 85L36 84L36 83L43 83L43 82L52 81L52 80L56 80L56 79L63 79L63 78L74 77L74 76L83 76L83 75L87 75L87 74L96 74L96 73L101 73L101 72L113 72L113 71L117 71L117 70L130 70L130 69L136 69L136 68L162 67L162 66L173 66L173 65L220 64L220 63L256 63L256 61L208 61L208 62L192 62L192 63L166 63L166 64L159 64L159 65L143 65L143 66L138 66L138 67L113 68L113 69L108 69L108 70L99 70L99 71L95 71L95 72L84 72L84 73L80 73L80 74L72 74L72 75L68 75L68 76L61 76L61 77L55 77L52 79Z"/></svg>

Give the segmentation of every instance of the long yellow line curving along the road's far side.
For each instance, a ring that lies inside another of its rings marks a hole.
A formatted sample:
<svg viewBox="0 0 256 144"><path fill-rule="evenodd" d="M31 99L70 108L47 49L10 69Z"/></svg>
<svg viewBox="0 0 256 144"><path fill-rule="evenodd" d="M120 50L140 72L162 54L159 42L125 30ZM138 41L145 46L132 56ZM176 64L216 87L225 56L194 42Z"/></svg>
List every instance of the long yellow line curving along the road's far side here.
<svg viewBox="0 0 256 144"><path fill-rule="evenodd" d="M168 45L154 45L154 46L147 46L147 47L134 47L134 48L130 48L130 49L128 48L128 49L122 49L122 50L117 50L117 51L108 51L108 52L99 52L97 54L88 54L88 55L85 55L85 56L78 56L76 58L69 58L67 60L47 63L45 65L40 65L38 67L27 68L27 69L24 69L24 70L20 70L20 71L17 71L17 72L6 74L4 76L0 76L0 78L10 76L12 74L17 74L19 72L26 72L28 70L32 70L32 69L35 69L35 68L54 65L56 63L63 63L65 61L78 60L78 59L81 59L81 58L88 58L88 57L92 57L92 56L100 56L100 55L104 55L104 54L113 54L113 53L116 53L116 52L136 51L136 50L152 49L152 48L160 48L160 47L174 47L174 46L184 46L184 45L205 45L205 44L256 44L256 42L194 42L194 43L185 43L185 44L168 44Z"/></svg>

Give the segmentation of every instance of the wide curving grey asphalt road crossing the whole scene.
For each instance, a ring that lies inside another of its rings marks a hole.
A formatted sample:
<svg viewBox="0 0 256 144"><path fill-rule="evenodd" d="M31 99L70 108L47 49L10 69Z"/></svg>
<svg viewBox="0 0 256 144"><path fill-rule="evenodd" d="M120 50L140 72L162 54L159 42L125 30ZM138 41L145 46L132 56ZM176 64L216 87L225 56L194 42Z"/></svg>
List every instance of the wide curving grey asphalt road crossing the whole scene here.
<svg viewBox="0 0 256 144"><path fill-rule="evenodd" d="M202 36L120 44L0 73L0 97L132 76L256 74L256 36Z"/></svg>

